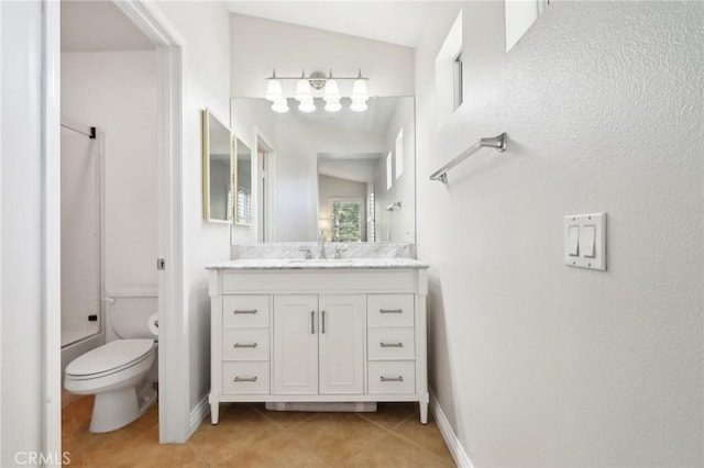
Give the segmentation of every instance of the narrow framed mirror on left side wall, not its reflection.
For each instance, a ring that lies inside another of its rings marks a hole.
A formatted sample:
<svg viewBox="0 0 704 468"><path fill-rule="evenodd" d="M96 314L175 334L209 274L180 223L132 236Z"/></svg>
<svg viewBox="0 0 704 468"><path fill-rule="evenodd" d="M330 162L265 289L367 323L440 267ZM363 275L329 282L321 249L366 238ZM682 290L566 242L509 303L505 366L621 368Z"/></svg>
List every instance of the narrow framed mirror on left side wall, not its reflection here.
<svg viewBox="0 0 704 468"><path fill-rule="evenodd" d="M202 111L202 213L215 223L232 222L232 135L208 109Z"/></svg>

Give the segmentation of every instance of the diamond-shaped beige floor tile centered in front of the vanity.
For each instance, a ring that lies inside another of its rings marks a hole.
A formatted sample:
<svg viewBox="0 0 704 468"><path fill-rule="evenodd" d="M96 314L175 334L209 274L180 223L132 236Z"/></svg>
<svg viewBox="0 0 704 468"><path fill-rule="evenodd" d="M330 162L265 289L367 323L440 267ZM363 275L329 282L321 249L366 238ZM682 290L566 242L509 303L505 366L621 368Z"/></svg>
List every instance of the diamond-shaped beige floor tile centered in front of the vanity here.
<svg viewBox="0 0 704 468"><path fill-rule="evenodd" d="M385 431L354 413L320 413L289 433L327 464L339 464L373 444Z"/></svg>

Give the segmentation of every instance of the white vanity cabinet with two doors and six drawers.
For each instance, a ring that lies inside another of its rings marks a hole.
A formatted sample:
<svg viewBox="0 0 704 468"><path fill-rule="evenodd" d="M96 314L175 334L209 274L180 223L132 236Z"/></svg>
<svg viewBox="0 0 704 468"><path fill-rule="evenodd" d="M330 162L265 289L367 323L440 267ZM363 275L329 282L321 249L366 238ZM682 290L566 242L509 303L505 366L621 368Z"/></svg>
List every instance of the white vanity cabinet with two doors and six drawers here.
<svg viewBox="0 0 704 468"><path fill-rule="evenodd" d="M416 401L427 423L427 274L403 260L211 267L212 423L235 401Z"/></svg>

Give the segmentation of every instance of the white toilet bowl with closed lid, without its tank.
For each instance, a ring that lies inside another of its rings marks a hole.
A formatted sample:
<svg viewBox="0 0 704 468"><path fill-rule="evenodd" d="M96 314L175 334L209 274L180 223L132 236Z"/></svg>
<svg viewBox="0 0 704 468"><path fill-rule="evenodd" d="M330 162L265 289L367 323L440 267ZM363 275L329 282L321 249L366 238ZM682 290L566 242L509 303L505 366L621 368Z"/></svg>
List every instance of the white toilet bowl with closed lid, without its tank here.
<svg viewBox="0 0 704 468"><path fill-rule="evenodd" d="M74 359L64 388L95 394L90 432L118 430L140 417L156 401L148 379L156 345L153 339L117 339Z"/></svg>

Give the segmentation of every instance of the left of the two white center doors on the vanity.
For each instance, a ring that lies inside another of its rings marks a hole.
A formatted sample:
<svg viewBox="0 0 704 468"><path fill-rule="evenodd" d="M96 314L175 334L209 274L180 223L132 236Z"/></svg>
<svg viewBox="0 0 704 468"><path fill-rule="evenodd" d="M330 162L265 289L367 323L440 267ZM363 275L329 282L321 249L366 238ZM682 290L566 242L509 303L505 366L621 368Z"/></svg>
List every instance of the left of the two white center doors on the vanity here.
<svg viewBox="0 0 704 468"><path fill-rule="evenodd" d="M273 393L318 393L318 296L274 296L273 366Z"/></svg>

